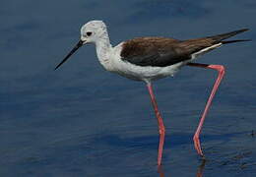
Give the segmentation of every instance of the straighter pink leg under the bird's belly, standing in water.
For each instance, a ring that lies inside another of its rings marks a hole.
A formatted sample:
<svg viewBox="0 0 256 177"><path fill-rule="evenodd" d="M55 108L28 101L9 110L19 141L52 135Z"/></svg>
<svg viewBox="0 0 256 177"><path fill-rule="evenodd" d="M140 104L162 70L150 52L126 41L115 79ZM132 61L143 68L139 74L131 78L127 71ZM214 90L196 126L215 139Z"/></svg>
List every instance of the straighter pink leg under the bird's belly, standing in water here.
<svg viewBox="0 0 256 177"><path fill-rule="evenodd" d="M151 101L156 113L156 116L158 118L158 123L159 123L159 131L160 131L160 146L159 146L159 156L158 156L158 165L160 166L161 162L161 154L162 154L162 148L163 148L163 143L164 143L164 134L165 134L165 128L162 122L162 119L160 117L160 111L158 108L157 100L153 92L152 85L150 83L147 84L147 87L149 89L150 95L151 95Z"/></svg>

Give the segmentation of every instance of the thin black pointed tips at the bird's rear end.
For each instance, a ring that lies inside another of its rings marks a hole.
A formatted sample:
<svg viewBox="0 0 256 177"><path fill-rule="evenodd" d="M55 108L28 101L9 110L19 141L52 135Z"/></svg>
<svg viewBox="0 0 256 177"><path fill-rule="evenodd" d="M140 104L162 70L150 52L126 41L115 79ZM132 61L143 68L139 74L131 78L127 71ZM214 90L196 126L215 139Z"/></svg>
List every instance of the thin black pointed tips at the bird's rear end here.
<svg viewBox="0 0 256 177"><path fill-rule="evenodd" d="M244 39L244 40L226 40L226 41L223 41L226 38L229 38L229 37L231 37L233 35L236 35L237 33L241 33L241 32L244 32L246 30L249 30L249 29L234 30L234 31L222 33L222 34L219 34L219 35L208 36L208 38L212 38L213 40L215 40L215 43L220 43L220 42L222 42L222 43L232 43L232 42L239 42L239 41L249 41L248 39Z"/></svg>

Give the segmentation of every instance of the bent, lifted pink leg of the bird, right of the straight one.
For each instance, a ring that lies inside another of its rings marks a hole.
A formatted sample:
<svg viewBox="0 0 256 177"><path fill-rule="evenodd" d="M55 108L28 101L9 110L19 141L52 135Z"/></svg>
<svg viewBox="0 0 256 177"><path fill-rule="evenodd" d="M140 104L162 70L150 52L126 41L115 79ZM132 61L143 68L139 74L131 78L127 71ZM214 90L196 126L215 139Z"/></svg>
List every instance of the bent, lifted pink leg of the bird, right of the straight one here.
<svg viewBox="0 0 256 177"><path fill-rule="evenodd" d="M219 86L222 82L222 79L224 78L224 66L223 65L207 65L207 64L200 64L200 63L188 63L187 65L192 66L192 67L201 67L201 68L206 68L206 69L213 69L213 70L217 70L219 72L218 78L217 78L217 80L215 82L215 85L214 85L214 88L212 89L212 92L211 92L211 94L208 98L204 113L202 115L202 118L200 119L199 125L197 127L196 133L195 133L194 138L193 138L194 145L195 145L195 148L196 148L197 152L200 155L204 156L203 152L202 152L202 148L200 146L199 135L201 133L202 126L204 124L207 112L209 110L209 107L211 106L211 103L212 103L212 100L215 96L215 93L216 93L217 89L219 88Z"/></svg>

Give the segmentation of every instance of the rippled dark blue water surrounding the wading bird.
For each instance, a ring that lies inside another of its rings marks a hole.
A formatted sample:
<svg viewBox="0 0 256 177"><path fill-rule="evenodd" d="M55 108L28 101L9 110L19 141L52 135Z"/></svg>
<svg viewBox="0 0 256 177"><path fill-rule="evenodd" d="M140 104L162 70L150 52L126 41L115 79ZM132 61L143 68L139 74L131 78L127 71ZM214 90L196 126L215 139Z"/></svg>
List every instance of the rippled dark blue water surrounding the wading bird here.
<svg viewBox="0 0 256 177"><path fill-rule="evenodd" d="M237 43L199 61L226 66L202 132L204 162L192 137L217 76L183 68L154 87L166 127L157 169L157 121L143 83L105 72L94 46L53 71L79 39L103 20L113 45L143 35L200 37L249 28L254 0L5 1L0 8L1 176L256 175L255 43Z"/></svg>

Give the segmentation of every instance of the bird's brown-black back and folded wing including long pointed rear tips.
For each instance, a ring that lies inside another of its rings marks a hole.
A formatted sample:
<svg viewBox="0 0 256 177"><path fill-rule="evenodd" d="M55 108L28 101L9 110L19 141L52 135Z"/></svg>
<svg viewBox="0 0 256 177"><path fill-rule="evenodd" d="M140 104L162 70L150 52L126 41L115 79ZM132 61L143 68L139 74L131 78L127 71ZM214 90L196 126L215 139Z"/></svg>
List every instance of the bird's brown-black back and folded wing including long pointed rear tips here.
<svg viewBox="0 0 256 177"><path fill-rule="evenodd" d="M224 43L246 41L224 39L247 29L207 37L178 40L168 37L138 37L122 44L121 59L138 66L166 67L193 59ZM202 51L202 53L201 53Z"/></svg>

